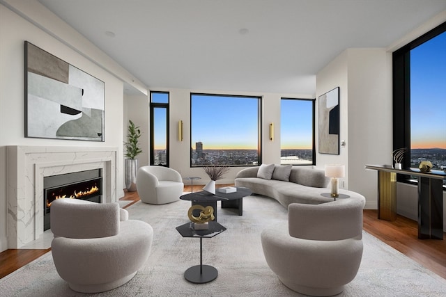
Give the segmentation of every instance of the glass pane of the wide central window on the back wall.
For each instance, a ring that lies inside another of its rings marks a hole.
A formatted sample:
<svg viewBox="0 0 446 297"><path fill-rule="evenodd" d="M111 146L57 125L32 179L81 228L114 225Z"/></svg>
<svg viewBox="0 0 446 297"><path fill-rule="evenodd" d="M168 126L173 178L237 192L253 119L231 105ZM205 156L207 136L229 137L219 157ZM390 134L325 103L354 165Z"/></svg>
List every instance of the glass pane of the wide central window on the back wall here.
<svg viewBox="0 0 446 297"><path fill-rule="evenodd" d="M259 97L191 95L191 166L259 164Z"/></svg>

